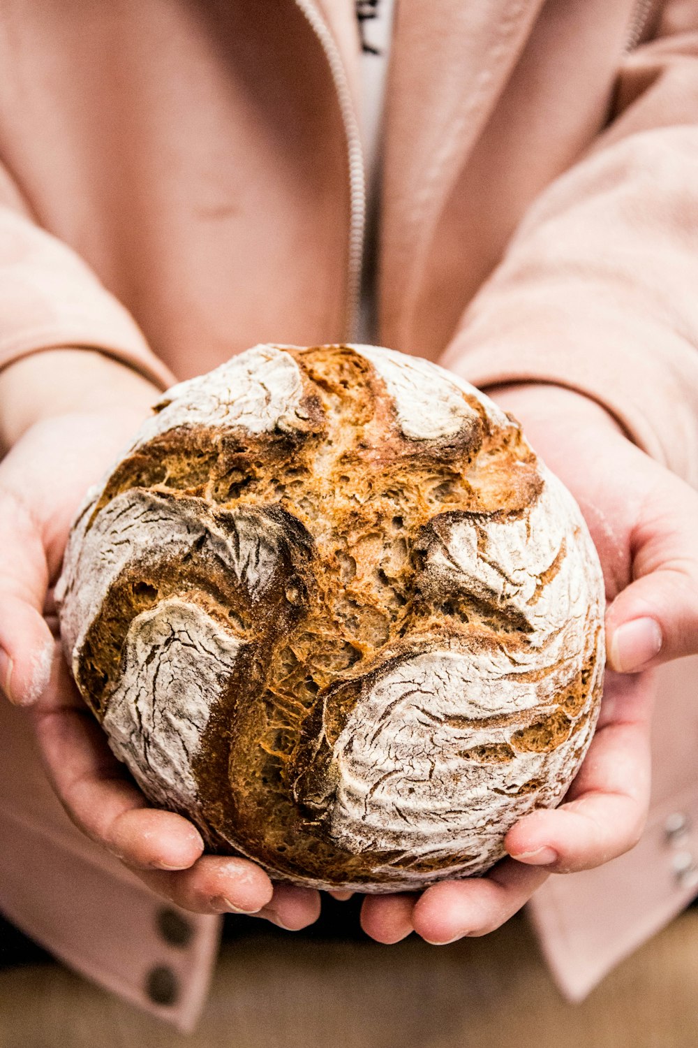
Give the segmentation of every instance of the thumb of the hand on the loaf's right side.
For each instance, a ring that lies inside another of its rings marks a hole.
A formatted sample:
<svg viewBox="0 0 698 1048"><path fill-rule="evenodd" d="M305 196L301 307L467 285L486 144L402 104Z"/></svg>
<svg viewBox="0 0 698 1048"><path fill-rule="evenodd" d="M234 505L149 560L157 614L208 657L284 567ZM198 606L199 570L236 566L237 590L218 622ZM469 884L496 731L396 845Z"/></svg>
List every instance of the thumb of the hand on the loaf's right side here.
<svg viewBox="0 0 698 1048"><path fill-rule="evenodd" d="M698 496L676 478L667 488L636 520L634 580L606 616L609 667L621 673L698 654Z"/></svg>

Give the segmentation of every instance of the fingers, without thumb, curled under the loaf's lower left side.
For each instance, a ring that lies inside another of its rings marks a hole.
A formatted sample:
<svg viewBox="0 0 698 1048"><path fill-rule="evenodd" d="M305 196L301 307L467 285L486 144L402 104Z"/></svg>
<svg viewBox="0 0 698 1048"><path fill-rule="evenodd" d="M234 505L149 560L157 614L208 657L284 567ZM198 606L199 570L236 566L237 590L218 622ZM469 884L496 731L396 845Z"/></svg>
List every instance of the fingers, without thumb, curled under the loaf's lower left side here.
<svg viewBox="0 0 698 1048"><path fill-rule="evenodd" d="M290 930L317 919L317 892L274 889L248 859L203 855L188 820L148 807L62 660L33 716L48 774L72 822L153 891L195 913L254 913Z"/></svg>

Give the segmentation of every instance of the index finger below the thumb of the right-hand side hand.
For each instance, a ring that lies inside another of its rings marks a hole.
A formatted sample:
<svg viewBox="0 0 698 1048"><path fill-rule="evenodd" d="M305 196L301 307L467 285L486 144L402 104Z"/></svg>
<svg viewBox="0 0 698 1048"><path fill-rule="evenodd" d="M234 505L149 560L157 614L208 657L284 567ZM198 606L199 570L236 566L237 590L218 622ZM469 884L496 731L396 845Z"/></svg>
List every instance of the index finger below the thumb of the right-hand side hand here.
<svg viewBox="0 0 698 1048"><path fill-rule="evenodd" d="M607 708L568 801L521 818L506 834L509 854L548 872L588 870L629 851L650 799L649 675L609 675Z"/></svg>

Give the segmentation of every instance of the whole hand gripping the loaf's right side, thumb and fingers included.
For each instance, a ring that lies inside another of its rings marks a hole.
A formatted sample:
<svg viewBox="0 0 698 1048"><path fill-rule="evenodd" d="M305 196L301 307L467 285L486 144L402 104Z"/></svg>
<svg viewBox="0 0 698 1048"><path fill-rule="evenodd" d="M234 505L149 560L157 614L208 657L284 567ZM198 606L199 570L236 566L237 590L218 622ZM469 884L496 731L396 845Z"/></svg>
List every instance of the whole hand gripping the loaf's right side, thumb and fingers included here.
<svg viewBox="0 0 698 1048"><path fill-rule="evenodd" d="M549 873L591 869L632 848L649 804L652 668L698 653L698 494L584 396L554 386L491 395L521 421L584 514L606 580L611 672L593 741L564 804L520 820L504 840L512 857L485 877L444 881L421 895L367 897L362 925L380 942L411 931L435 943L483 935Z"/></svg>

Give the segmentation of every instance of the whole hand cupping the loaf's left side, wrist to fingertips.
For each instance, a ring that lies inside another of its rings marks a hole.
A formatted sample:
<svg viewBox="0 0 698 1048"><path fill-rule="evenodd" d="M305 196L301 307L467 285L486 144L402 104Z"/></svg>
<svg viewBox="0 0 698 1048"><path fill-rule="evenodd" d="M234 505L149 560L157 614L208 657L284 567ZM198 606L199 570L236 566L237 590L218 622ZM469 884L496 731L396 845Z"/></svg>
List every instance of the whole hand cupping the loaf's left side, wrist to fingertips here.
<svg viewBox="0 0 698 1048"><path fill-rule="evenodd" d="M300 929L319 914L317 892L273 886L244 858L204 855L190 822L149 804L77 694L44 617L87 488L159 396L134 378L131 400L35 422L0 462L0 683L12 702L31 707L42 759L70 818L150 888L197 913L253 913Z"/></svg>

